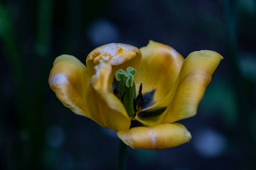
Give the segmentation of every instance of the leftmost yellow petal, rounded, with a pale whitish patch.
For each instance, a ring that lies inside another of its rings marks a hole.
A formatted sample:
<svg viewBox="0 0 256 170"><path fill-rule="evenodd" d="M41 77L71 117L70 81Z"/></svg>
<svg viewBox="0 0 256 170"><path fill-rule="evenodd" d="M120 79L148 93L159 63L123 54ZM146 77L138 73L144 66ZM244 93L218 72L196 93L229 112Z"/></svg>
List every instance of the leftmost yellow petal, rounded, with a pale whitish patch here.
<svg viewBox="0 0 256 170"><path fill-rule="evenodd" d="M90 80L88 70L76 57L62 55L55 59L49 74L49 86L57 98L74 113L90 118L85 92Z"/></svg>

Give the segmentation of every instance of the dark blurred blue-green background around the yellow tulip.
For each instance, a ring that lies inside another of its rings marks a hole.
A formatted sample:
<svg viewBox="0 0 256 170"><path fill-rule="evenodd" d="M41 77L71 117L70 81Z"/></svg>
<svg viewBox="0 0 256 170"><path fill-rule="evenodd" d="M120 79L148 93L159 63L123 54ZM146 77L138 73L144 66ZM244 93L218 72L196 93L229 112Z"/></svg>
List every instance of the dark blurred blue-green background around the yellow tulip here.
<svg viewBox="0 0 256 170"><path fill-rule="evenodd" d="M0 169L114 169L114 131L77 116L48 86L52 63L85 63L109 42L162 42L187 57L224 59L197 115L180 121L189 143L127 151L127 169L256 169L256 1L0 1Z"/></svg>

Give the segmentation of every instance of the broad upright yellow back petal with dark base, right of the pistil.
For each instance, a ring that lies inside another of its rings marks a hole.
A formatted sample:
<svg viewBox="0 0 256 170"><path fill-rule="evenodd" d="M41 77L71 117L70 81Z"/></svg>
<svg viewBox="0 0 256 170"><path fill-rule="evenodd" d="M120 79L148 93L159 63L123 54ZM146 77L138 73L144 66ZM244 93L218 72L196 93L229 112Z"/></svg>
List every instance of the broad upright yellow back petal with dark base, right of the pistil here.
<svg viewBox="0 0 256 170"><path fill-rule="evenodd" d="M137 71L136 88L142 83L144 107L163 100L179 75L184 58L174 48L150 41L142 47L142 61Z"/></svg>

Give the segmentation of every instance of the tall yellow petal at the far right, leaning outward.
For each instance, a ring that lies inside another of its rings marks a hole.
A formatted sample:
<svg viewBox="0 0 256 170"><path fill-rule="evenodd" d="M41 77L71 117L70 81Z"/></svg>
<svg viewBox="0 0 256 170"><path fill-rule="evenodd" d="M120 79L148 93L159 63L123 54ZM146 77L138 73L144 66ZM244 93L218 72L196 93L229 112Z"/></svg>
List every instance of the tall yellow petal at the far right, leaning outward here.
<svg viewBox="0 0 256 170"><path fill-rule="evenodd" d="M158 124L195 116L212 74L223 57L210 50L193 52L185 59L174 87L157 107L171 103Z"/></svg>

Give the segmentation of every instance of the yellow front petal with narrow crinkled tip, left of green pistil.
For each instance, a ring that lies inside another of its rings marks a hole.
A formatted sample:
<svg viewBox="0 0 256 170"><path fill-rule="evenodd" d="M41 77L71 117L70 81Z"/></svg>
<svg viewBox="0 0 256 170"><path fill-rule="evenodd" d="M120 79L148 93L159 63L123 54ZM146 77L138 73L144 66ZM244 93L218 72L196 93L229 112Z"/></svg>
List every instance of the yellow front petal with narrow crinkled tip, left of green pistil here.
<svg viewBox="0 0 256 170"><path fill-rule="evenodd" d="M109 79L113 78L112 66L106 60L102 60L96 66L96 75L92 76L86 91L86 104L92 120L104 128L115 131L127 130L130 128L129 116L125 107L109 91Z"/></svg>

